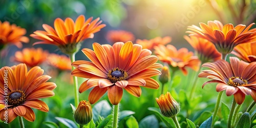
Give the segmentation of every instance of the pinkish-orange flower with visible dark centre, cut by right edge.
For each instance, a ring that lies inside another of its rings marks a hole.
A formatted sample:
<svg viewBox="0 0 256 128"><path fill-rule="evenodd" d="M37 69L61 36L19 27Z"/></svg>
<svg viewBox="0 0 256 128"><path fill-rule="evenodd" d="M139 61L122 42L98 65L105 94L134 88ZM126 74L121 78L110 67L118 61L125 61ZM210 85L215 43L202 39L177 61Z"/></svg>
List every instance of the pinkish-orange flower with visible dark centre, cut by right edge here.
<svg viewBox="0 0 256 128"><path fill-rule="evenodd" d="M230 63L225 60L207 62L202 67L210 68L199 73L198 77L212 79L203 84L217 82L216 91L226 90L226 95L234 95L238 104L242 104L245 95L251 95L256 101L256 62L247 63L237 57L230 57Z"/></svg>

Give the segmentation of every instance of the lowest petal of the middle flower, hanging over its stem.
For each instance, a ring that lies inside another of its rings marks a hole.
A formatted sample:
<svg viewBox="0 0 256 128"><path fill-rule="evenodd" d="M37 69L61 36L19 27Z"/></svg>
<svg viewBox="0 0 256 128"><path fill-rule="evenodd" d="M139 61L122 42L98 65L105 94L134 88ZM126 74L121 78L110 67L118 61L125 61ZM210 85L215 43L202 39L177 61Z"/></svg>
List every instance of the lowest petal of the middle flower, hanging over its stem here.
<svg viewBox="0 0 256 128"><path fill-rule="evenodd" d="M117 105L121 101L122 95L123 89L120 87L112 86L108 89L108 97L113 105Z"/></svg>

